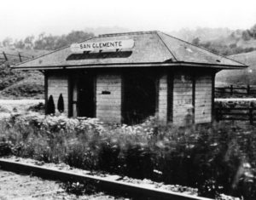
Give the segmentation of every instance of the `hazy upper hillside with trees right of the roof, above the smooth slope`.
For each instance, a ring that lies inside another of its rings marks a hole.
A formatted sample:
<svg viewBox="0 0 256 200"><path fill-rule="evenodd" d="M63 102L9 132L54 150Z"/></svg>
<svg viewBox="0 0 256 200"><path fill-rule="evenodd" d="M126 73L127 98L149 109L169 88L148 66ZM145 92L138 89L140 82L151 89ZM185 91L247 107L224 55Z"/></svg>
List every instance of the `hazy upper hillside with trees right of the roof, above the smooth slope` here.
<svg viewBox="0 0 256 200"><path fill-rule="evenodd" d="M253 34L256 35L254 28L250 30L230 30L228 28L198 27L192 30L172 31L170 34L226 56L256 50L256 37L253 37Z"/></svg>

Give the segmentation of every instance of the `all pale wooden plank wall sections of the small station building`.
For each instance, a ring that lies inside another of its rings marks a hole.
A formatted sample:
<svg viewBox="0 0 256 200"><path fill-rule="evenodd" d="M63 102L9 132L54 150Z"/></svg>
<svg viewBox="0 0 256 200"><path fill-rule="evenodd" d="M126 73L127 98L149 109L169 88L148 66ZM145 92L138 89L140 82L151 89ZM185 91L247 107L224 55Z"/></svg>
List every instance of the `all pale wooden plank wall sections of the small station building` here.
<svg viewBox="0 0 256 200"><path fill-rule="evenodd" d="M159 79L158 113L161 123L167 123L168 108L173 109L172 123L183 125L191 122L191 108L193 96L195 96L195 123L210 123L212 121L212 75L201 74L193 77L189 73L177 72L173 75L172 82L168 86L167 74L162 74ZM57 111L57 102L60 94L64 99L64 113L68 113L68 77L67 74L48 71L47 75L47 97L52 95ZM171 87L172 89L168 89ZM193 95L193 89L195 94ZM76 90L76 87L74 87ZM172 97L168 102L168 91ZM76 101L76 92L73 91L73 101ZM109 123L121 123L122 121L122 76L121 74L98 74L96 76L96 117ZM168 105L172 104L172 106ZM73 115L76 115L73 105ZM189 121L190 120L190 121ZM192 119L193 120L193 119Z"/></svg>

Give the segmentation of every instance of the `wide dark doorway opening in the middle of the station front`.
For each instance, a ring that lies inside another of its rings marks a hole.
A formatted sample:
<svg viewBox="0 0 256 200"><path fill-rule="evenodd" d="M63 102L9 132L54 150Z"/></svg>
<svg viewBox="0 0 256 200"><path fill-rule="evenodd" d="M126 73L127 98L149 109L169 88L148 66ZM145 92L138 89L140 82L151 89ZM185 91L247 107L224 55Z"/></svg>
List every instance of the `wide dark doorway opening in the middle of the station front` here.
<svg viewBox="0 0 256 200"><path fill-rule="evenodd" d="M123 123L142 123L154 116L156 109L156 76L135 71L125 73L123 96Z"/></svg>

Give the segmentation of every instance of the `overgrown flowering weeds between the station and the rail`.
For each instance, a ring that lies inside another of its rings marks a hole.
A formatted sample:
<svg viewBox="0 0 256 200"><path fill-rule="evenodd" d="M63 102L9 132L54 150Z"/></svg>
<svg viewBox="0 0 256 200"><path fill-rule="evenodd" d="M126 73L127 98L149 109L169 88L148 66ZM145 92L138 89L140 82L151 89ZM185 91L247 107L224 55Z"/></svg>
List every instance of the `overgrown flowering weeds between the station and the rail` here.
<svg viewBox="0 0 256 200"><path fill-rule="evenodd" d="M93 118L27 114L0 123L12 152L44 162L100 170L166 184L193 186L202 196L220 193L255 199L256 135L231 123L177 128L154 118L126 126Z"/></svg>

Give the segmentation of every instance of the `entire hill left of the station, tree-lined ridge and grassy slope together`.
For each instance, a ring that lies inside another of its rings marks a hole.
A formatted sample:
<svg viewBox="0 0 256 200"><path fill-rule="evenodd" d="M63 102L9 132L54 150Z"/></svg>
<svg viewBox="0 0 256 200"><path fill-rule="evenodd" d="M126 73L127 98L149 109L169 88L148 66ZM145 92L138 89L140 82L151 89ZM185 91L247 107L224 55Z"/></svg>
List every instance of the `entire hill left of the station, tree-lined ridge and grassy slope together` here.
<svg viewBox="0 0 256 200"><path fill-rule="evenodd" d="M27 36L15 41L10 37L3 39L0 42L0 99L44 98L42 72L11 70L9 66L90 37L94 37L91 32L71 31L61 36L41 33L38 37Z"/></svg>

